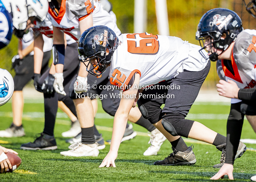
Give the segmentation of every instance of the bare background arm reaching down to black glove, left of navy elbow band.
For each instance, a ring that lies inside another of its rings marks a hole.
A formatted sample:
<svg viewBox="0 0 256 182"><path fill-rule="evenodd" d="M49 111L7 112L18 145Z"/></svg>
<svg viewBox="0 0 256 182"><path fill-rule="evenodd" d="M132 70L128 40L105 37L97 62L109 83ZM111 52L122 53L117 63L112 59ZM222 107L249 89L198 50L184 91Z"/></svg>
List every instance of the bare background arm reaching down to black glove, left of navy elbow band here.
<svg viewBox="0 0 256 182"><path fill-rule="evenodd" d="M42 68L42 62L44 57L44 39L43 34L40 34L34 40L34 73L40 74Z"/></svg>

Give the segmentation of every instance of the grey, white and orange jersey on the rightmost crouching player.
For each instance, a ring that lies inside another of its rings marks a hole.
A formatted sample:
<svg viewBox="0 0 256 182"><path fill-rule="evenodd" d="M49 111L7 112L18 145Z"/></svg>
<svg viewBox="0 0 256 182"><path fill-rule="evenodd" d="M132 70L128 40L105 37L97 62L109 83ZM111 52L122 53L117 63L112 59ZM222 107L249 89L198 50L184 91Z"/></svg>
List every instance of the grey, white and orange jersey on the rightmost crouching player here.
<svg viewBox="0 0 256 182"><path fill-rule="evenodd" d="M220 78L233 80L241 89L256 87L256 30L246 29L237 35L231 61L218 60ZM221 62L221 68L220 68ZM241 102L232 98L231 103Z"/></svg>

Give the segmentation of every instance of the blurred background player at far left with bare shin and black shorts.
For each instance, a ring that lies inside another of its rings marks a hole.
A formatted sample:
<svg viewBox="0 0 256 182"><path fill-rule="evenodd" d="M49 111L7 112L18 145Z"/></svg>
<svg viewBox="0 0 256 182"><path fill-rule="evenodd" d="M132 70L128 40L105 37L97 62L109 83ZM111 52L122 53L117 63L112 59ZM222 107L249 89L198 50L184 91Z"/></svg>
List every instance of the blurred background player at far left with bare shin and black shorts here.
<svg viewBox="0 0 256 182"><path fill-rule="evenodd" d="M24 128L22 126L22 112L24 99L22 90L24 86L34 76L34 39L33 31L30 29L23 38L19 39L18 55L12 58L12 68L15 70L14 76L14 92L12 96L12 114L13 122L11 127L0 131L0 137L18 137L24 136ZM44 36L44 58L42 62L42 73L48 69L48 62L51 57L52 39Z"/></svg>

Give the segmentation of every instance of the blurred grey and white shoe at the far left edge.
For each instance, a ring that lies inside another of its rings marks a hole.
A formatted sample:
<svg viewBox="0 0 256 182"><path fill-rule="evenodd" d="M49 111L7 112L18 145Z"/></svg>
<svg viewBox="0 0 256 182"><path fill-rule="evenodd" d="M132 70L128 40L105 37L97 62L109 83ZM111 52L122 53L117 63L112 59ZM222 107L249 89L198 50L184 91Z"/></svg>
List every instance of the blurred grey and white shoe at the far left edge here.
<svg viewBox="0 0 256 182"><path fill-rule="evenodd" d="M11 138L11 137L24 136L24 135L25 135L25 132L24 132L23 126L21 125L20 127L17 127L13 123L6 130L0 131L0 137Z"/></svg>

